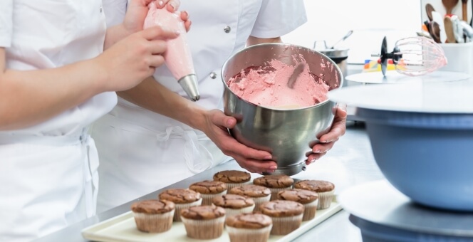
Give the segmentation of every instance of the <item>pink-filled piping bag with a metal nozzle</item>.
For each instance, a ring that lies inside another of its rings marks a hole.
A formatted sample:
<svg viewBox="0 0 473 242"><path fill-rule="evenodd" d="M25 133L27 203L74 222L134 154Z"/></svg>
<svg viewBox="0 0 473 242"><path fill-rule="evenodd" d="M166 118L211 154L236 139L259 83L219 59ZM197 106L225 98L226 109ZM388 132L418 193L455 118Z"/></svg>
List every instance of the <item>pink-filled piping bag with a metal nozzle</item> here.
<svg viewBox="0 0 473 242"><path fill-rule="evenodd" d="M190 49L187 45L184 21L182 21L179 13L171 13L167 11L166 7L157 9L154 1L148 6L150 10L147 13L143 28L162 26L180 32L177 38L167 40L167 51L163 56L167 68L169 68L187 96L192 101L199 100L200 94L197 87L197 75L195 75L194 63L192 62Z"/></svg>

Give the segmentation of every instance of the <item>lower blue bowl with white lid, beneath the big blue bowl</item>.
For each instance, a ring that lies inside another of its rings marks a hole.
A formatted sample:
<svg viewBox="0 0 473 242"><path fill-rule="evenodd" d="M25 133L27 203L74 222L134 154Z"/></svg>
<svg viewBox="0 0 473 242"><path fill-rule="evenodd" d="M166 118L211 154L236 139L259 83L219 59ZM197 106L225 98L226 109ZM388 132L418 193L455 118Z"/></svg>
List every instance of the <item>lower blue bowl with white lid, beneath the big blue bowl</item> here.
<svg viewBox="0 0 473 242"><path fill-rule="evenodd" d="M385 179L350 186L337 201L360 228L363 242L473 241L473 214L418 206Z"/></svg>

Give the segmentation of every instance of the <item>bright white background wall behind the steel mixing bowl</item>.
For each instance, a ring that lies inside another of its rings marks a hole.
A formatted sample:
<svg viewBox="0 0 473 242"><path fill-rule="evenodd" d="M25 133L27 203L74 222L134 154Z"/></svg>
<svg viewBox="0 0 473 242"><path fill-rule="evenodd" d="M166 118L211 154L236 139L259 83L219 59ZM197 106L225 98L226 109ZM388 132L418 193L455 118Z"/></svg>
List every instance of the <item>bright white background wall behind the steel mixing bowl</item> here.
<svg viewBox="0 0 473 242"><path fill-rule="evenodd" d="M277 1L277 0L276 0ZM436 0L441 1L441 0ZM328 46L353 30L338 48L349 48L348 62L363 63L379 53L384 36L388 51L397 39L415 36L421 28L420 0L304 0L308 22L283 36L286 43L313 48L316 40Z"/></svg>

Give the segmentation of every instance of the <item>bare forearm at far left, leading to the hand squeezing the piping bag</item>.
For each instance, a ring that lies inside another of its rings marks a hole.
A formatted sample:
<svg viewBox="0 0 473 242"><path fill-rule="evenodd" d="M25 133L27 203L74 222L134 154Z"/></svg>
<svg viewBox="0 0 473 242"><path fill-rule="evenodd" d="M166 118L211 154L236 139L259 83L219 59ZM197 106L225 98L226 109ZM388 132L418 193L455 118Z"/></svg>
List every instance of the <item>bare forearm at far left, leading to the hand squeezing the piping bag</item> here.
<svg viewBox="0 0 473 242"><path fill-rule="evenodd" d="M106 77L90 61L45 70L7 70L0 48L0 130L48 120L102 92Z"/></svg>

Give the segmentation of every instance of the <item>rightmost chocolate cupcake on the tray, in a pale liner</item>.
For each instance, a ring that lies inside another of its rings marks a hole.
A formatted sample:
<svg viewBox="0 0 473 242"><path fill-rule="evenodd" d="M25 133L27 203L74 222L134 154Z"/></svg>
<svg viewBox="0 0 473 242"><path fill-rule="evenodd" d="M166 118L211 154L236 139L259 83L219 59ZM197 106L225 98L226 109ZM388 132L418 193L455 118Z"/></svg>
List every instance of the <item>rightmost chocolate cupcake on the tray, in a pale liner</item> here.
<svg viewBox="0 0 473 242"><path fill-rule="evenodd" d="M335 185L330 181L302 180L294 184L296 189L315 191L318 194L317 209L328 209L333 201Z"/></svg>

